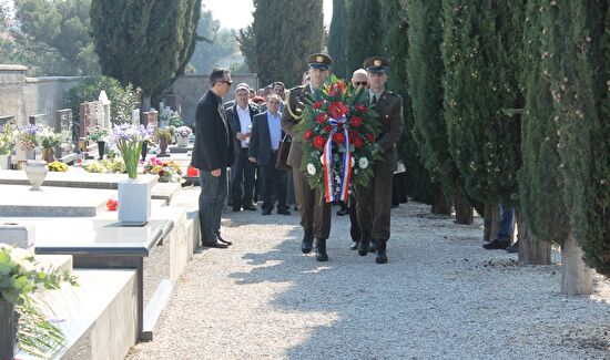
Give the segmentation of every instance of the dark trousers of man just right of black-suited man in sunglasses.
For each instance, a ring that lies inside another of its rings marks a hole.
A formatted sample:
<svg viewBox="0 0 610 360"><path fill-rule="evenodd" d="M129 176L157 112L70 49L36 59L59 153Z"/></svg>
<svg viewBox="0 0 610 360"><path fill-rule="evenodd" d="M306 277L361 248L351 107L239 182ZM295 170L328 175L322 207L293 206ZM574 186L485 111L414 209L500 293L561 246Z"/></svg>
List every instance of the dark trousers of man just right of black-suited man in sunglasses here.
<svg viewBox="0 0 610 360"><path fill-rule="evenodd" d="M247 160L247 148L242 148L231 167L231 204L233 207L252 206L256 164Z"/></svg>

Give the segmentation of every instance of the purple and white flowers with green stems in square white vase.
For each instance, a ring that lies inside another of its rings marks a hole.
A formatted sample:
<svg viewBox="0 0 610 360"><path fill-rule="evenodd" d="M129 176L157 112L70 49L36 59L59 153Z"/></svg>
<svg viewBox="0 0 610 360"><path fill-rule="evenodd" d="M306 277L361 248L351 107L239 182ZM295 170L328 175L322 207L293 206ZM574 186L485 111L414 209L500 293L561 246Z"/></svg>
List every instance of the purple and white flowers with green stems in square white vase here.
<svg viewBox="0 0 610 360"><path fill-rule="evenodd" d="M112 127L112 142L121 153L130 178L138 177L138 164L142 144L151 136L151 131L142 125L115 124Z"/></svg>

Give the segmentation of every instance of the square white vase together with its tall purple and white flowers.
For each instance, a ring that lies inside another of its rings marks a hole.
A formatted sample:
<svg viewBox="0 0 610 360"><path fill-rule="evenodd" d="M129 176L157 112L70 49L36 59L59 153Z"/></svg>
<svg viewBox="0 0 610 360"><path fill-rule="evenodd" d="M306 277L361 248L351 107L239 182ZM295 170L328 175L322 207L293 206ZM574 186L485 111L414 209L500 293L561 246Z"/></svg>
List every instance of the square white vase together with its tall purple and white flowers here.
<svg viewBox="0 0 610 360"><path fill-rule="evenodd" d="M112 141L121 153L129 178L119 182L119 219L124 225L142 226L151 217L151 189L155 177L138 178L142 144L151 132L142 125L115 124Z"/></svg>

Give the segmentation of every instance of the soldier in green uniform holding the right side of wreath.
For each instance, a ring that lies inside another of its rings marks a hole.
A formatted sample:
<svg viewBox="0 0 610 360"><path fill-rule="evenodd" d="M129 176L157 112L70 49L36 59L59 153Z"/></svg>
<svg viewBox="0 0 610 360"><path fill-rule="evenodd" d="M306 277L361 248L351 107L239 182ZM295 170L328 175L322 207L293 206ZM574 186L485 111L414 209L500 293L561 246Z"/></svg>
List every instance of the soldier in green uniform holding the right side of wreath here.
<svg viewBox="0 0 610 360"><path fill-rule="evenodd" d="M379 56L364 62L368 79L369 105L375 104L379 121L379 135L376 138L382 147L384 160L373 165L369 186L356 187L356 213L363 232L358 254L366 256L370 241L376 243L375 263L387 263L386 243L389 239L392 181L398 166L396 142L405 127L403 97L385 89L389 62Z"/></svg>

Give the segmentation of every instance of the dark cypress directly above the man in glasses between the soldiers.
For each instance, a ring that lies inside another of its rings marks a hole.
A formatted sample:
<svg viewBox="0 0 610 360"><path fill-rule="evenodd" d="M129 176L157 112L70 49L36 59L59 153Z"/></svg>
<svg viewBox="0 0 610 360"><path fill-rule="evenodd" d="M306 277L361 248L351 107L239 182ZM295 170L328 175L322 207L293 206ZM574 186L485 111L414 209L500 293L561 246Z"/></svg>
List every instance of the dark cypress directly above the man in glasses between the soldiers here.
<svg viewBox="0 0 610 360"><path fill-rule="evenodd" d="M366 58L378 56L384 50L385 27L380 0L347 2L347 72L363 66Z"/></svg>

